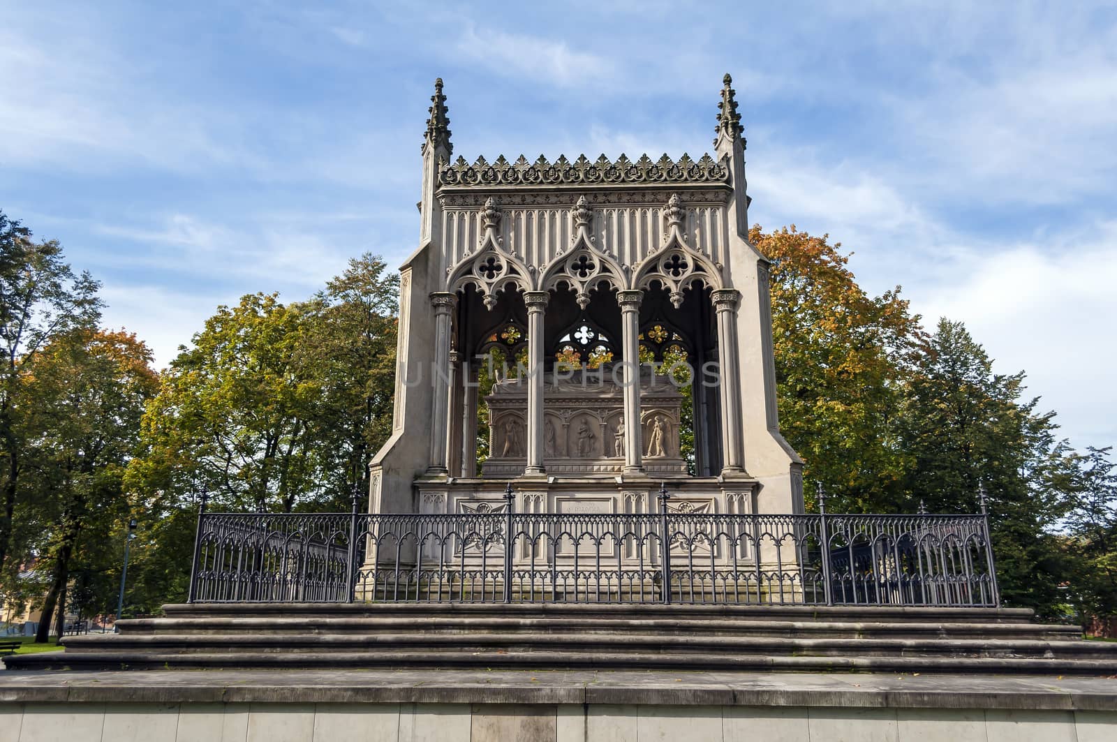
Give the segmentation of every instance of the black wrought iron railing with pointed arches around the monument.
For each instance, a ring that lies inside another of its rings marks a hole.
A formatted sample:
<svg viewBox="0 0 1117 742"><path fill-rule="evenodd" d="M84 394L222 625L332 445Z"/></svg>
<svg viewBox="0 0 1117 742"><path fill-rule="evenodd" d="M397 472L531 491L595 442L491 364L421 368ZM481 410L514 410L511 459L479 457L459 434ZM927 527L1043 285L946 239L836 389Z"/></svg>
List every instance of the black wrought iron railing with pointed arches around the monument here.
<svg viewBox="0 0 1117 742"><path fill-rule="evenodd" d="M999 605L981 515L208 513L191 602Z"/></svg>

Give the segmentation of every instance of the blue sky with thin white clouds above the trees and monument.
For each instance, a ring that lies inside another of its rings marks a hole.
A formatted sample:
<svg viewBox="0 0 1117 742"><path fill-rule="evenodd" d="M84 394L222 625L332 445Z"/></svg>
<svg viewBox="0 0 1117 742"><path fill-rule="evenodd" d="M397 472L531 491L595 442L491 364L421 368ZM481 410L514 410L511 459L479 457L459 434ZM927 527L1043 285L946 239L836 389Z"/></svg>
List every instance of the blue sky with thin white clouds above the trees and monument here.
<svg viewBox="0 0 1117 742"><path fill-rule="evenodd" d="M220 303L414 248L436 76L491 160L700 154L729 72L751 221L829 232L1117 444L1113 6L522 4L4 3L0 208L165 364Z"/></svg>

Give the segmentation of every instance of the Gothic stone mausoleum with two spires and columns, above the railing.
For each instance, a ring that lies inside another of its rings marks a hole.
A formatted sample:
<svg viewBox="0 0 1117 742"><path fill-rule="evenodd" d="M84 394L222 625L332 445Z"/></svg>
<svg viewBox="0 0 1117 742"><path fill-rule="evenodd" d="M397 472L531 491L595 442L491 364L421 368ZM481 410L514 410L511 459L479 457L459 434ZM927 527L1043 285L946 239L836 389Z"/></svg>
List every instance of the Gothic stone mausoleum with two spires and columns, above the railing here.
<svg viewBox="0 0 1117 742"><path fill-rule="evenodd" d="M729 76L679 160L469 163L431 103L370 511L500 512L514 481L521 513L649 513L669 481L680 512L802 512Z"/></svg>

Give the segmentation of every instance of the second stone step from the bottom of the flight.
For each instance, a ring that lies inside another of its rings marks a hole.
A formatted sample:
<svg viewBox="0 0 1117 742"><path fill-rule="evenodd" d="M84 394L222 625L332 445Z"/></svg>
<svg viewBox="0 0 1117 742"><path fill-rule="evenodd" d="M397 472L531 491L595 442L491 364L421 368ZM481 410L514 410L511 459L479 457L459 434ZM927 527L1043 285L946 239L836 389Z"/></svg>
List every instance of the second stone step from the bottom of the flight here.
<svg viewBox="0 0 1117 742"><path fill-rule="evenodd" d="M1108 660L1117 673L1117 645L1100 641L1003 639L850 639L707 637L630 634L375 634L361 635L90 635L64 641L68 654L153 651L192 653L375 653L442 651L599 651L614 654L748 653L786 656L942 656Z"/></svg>

